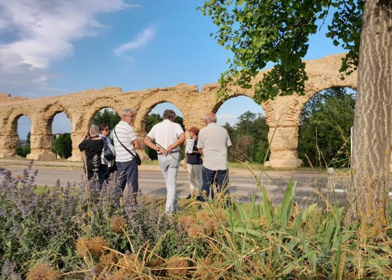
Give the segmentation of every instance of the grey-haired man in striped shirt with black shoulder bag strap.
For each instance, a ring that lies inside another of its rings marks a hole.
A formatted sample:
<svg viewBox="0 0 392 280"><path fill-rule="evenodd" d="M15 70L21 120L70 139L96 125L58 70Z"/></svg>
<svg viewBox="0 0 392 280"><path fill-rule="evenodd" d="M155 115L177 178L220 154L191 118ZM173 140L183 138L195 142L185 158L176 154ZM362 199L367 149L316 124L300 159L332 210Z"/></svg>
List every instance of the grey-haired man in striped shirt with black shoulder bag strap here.
<svg viewBox="0 0 392 280"><path fill-rule="evenodd" d="M128 188L132 188L134 202L136 202L136 195L139 191L137 163L123 145L133 154L136 153L135 149L140 148L136 132L132 127L135 117L136 114L133 109L124 108L121 111L121 121L116 125L114 129L116 133L113 136L116 150L117 175L119 178L117 191L121 195L124 191L125 183L128 183Z"/></svg>

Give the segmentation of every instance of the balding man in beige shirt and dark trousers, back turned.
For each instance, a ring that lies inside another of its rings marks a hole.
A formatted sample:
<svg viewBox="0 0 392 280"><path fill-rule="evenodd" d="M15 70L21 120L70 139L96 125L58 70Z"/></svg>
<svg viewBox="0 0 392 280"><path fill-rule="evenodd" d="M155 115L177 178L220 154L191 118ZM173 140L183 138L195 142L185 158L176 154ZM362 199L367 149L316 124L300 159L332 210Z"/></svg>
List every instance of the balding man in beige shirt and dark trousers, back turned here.
<svg viewBox="0 0 392 280"><path fill-rule="evenodd" d="M216 125L216 115L208 113L204 121L206 127L199 132L198 148L203 154L202 195L200 201L204 202L210 195L210 188L214 181L218 191L226 193L229 183L227 147L231 140L227 130Z"/></svg>

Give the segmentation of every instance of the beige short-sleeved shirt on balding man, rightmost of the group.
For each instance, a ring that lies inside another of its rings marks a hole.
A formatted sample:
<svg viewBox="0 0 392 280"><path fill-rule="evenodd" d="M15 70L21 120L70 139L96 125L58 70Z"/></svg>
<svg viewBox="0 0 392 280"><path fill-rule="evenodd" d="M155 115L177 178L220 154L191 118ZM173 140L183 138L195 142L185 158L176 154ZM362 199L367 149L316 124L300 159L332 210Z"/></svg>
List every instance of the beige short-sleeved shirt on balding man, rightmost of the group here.
<svg viewBox="0 0 392 280"><path fill-rule="evenodd" d="M231 146L227 130L209 123L199 132L198 148L203 149L203 166L210 170L227 170L227 147Z"/></svg>

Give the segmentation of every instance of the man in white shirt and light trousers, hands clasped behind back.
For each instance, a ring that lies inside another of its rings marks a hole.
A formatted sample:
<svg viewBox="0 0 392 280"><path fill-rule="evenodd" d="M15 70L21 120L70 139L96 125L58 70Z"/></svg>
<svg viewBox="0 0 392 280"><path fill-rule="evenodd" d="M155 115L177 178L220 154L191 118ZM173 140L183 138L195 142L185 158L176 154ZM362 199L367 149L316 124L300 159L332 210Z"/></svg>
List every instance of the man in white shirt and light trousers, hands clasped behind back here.
<svg viewBox="0 0 392 280"><path fill-rule="evenodd" d="M159 166L166 183L166 213L172 213L179 208L176 193L180 166L178 146L184 143L185 133L181 125L174 122L175 118L176 113L173 110L165 110L163 121L154 125L144 139L144 144L158 153Z"/></svg>

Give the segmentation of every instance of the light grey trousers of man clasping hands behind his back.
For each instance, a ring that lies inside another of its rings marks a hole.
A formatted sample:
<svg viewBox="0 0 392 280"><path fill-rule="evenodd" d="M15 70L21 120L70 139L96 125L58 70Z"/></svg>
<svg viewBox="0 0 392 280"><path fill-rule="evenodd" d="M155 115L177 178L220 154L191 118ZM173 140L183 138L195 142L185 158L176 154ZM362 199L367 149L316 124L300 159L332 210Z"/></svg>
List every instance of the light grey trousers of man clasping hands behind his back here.
<svg viewBox="0 0 392 280"><path fill-rule="evenodd" d="M180 153L169 154L167 156L158 155L158 162L166 183L166 212L171 213L179 208L176 180L178 167L180 166Z"/></svg>

